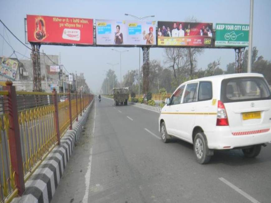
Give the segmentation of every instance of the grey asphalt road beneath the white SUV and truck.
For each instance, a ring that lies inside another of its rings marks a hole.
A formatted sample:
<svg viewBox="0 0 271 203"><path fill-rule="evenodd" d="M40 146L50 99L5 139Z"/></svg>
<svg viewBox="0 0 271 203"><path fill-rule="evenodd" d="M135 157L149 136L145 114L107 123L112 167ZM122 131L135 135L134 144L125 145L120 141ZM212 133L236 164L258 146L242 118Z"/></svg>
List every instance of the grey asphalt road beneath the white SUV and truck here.
<svg viewBox="0 0 271 203"><path fill-rule="evenodd" d="M271 202L270 144L255 159L217 151L200 165L191 144L160 140L158 117L96 99L51 202Z"/></svg>

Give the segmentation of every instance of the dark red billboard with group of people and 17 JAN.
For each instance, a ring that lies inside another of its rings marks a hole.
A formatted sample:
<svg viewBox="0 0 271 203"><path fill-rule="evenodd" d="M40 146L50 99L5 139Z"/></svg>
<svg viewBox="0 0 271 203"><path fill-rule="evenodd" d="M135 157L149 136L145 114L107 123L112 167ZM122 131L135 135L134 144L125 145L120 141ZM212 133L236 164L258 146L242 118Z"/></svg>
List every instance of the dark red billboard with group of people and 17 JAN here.
<svg viewBox="0 0 271 203"><path fill-rule="evenodd" d="M158 46L211 46L213 24L158 21Z"/></svg>

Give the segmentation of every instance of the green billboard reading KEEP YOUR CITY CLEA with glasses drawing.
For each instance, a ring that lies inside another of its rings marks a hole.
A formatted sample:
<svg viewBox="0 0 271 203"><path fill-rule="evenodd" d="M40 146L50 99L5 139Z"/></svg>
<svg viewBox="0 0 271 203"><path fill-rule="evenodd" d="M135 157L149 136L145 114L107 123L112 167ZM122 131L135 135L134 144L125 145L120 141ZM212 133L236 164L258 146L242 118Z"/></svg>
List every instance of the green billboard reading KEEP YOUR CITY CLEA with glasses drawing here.
<svg viewBox="0 0 271 203"><path fill-rule="evenodd" d="M215 46L248 46L249 25L216 23Z"/></svg>

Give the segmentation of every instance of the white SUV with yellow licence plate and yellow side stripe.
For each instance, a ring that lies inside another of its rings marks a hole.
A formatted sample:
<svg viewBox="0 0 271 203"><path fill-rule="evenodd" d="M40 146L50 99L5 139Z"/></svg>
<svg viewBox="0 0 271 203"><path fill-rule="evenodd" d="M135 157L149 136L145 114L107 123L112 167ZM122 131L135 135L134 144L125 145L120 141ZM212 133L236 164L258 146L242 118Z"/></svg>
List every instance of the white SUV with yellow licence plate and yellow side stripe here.
<svg viewBox="0 0 271 203"><path fill-rule="evenodd" d="M166 99L159 131L165 143L174 136L194 144L201 164L214 150L241 148L245 157L256 157L271 142L270 108L270 89L261 74L190 80Z"/></svg>

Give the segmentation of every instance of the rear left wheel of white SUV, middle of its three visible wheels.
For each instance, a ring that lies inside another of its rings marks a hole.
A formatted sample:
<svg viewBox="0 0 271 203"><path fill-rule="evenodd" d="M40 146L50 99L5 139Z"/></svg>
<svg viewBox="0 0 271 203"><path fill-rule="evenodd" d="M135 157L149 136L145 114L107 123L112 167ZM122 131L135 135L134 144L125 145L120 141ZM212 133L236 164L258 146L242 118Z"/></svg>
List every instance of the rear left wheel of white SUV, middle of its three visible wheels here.
<svg viewBox="0 0 271 203"><path fill-rule="evenodd" d="M200 164L206 164L210 161L209 148L207 145L207 139L203 133L197 133L194 139L194 152L197 162Z"/></svg>

